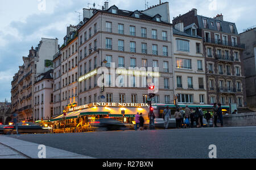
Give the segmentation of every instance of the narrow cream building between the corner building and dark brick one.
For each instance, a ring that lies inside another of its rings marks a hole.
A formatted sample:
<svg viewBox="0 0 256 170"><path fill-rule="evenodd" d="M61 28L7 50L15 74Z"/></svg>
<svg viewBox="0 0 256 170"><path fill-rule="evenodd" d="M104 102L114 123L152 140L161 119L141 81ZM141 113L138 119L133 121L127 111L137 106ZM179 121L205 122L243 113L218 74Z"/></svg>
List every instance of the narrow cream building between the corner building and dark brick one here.
<svg viewBox="0 0 256 170"><path fill-rule="evenodd" d="M197 35L195 23L173 28L174 88L179 104L207 104L203 40Z"/></svg>

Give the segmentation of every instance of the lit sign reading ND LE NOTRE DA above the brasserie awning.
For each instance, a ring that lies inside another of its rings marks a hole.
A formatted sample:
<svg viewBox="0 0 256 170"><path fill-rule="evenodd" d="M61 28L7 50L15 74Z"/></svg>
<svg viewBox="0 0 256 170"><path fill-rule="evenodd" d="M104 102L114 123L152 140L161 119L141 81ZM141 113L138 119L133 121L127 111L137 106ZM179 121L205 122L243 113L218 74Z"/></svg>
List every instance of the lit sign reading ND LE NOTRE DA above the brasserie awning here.
<svg viewBox="0 0 256 170"><path fill-rule="evenodd" d="M77 107L72 107L69 111L76 111L81 109L88 109L90 107L148 107L147 103L109 103L109 102L98 102L90 103L87 105L81 105Z"/></svg>

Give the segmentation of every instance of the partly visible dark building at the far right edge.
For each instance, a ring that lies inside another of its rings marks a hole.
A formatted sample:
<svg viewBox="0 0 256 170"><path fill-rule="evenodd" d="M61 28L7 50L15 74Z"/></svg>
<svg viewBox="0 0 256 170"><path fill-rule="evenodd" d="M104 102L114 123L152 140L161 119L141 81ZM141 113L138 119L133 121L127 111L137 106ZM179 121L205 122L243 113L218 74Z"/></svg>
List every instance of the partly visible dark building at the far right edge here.
<svg viewBox="0 0 256 170"><path fill-rule="evenodd" d="M256 27L242 32L240 38L246 47L242 61L245 65L247 106L256 111Z"/></svg>

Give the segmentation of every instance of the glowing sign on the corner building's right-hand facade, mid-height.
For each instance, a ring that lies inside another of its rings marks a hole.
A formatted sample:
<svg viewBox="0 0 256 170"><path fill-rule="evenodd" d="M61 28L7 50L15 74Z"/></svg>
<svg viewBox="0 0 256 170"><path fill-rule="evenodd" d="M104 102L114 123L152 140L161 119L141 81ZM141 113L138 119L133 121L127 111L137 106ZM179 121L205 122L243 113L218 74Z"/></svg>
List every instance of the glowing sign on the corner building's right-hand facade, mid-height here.
<svg viewBox="0 0 256 170"><path fill-rule="evenodd" d="M151 77L160 77L159 72L147 72L147 71L138 71L138 70L126 70L126 69L117 69L117 74L127 74L133 76L148 76Z"/></svg>

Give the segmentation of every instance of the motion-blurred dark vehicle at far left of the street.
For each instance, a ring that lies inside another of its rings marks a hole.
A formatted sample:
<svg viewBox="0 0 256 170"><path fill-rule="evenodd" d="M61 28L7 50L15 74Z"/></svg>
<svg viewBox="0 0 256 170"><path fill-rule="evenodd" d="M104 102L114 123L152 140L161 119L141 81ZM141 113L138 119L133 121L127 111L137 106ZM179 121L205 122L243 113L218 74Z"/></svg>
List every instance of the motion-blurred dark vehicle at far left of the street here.
<svg viewBox="0 0 256 170"><path fill-rule="evenodd" d="M0 130L1 131L1 130ZM35 134L35 133L48 133L49 127L43 127L36 123L18 123L19 134ZM15 125L6 125L3 127L3 134L16 134Z"/></svg>

